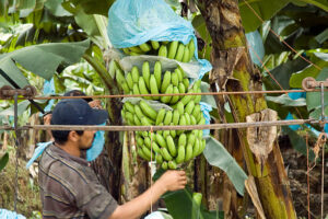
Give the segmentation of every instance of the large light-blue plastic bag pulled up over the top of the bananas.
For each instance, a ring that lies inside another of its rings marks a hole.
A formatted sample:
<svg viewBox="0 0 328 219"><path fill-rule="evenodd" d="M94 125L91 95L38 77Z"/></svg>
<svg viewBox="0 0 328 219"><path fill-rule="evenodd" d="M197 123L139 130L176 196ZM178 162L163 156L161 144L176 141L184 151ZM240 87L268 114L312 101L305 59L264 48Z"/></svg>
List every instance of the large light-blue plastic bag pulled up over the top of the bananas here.
<svg viewBox="0 0 328 219"><path fill-rule="evenodd" d="M179 41L185 45L197 39L190 22L177 15L163 0L119 0L108 12L107 34L115 48L126 48L148 41ZM202 66L199 79L212 69L211 64L198 59Z"/></svg>

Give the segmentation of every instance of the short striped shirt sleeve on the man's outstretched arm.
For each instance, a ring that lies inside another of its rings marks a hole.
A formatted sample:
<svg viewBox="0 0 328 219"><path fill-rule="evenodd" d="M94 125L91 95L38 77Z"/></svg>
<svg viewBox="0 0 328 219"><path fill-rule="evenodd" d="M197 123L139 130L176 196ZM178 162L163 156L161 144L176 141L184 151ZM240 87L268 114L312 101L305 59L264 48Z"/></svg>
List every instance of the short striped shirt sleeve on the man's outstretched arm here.
<svg viewBox="0 0 328 219"><path fill-rule="evenodd" d="M85 168L83 173L83 180L81 178L80 184L77 184L78 208L86 212L91 219L107 219L117 208L117 201L98 182L90 168Z"/></svg>

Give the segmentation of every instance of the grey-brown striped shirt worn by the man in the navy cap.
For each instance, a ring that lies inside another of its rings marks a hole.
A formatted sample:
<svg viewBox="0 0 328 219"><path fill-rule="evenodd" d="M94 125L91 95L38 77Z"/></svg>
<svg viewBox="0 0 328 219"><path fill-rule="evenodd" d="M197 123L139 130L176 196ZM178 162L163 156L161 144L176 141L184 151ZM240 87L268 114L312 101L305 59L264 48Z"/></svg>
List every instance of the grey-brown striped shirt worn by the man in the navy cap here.
<svg viewBox="0 0 328 219"><path fill-rule="evenodd" d="M43 152L38 178L44 218L107 219L117 208L87 162L54 145Z"/></svg>

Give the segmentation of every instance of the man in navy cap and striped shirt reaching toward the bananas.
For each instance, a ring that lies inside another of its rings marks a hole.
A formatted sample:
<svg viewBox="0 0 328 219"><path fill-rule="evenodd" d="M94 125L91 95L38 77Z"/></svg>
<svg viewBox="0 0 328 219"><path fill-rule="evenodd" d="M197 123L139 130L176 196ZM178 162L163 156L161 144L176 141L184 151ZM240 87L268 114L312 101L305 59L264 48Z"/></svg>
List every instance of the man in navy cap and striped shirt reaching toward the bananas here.
<svg viewBox="0 0 328 219"><path fill-rule="evenodd" d="M60 101L51 125L98 125L107 119L107 112L92 108L81 99ZM89 149L95 131L52 130L55 143L39 161L39 186L45 218L139 218L167 191L185 187L184 171L165 172L151 188L137 198L118 205L96 175L80 158Z"/></svg>

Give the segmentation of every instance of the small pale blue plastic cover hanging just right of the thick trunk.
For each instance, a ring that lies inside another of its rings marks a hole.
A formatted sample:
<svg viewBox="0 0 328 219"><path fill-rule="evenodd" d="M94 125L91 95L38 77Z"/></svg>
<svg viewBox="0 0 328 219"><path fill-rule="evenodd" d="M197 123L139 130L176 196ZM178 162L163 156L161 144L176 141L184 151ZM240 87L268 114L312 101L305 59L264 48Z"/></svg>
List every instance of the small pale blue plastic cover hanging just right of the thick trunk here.
<svg viewBox="0 0 328 219"><path fill-rule="evenodd" d="M265 57L265 46L261 35L258 31L246 34L246 38L249 45L249 54L254 64L262 66ZM260 60L259 60L260 59Z"/></svg>

